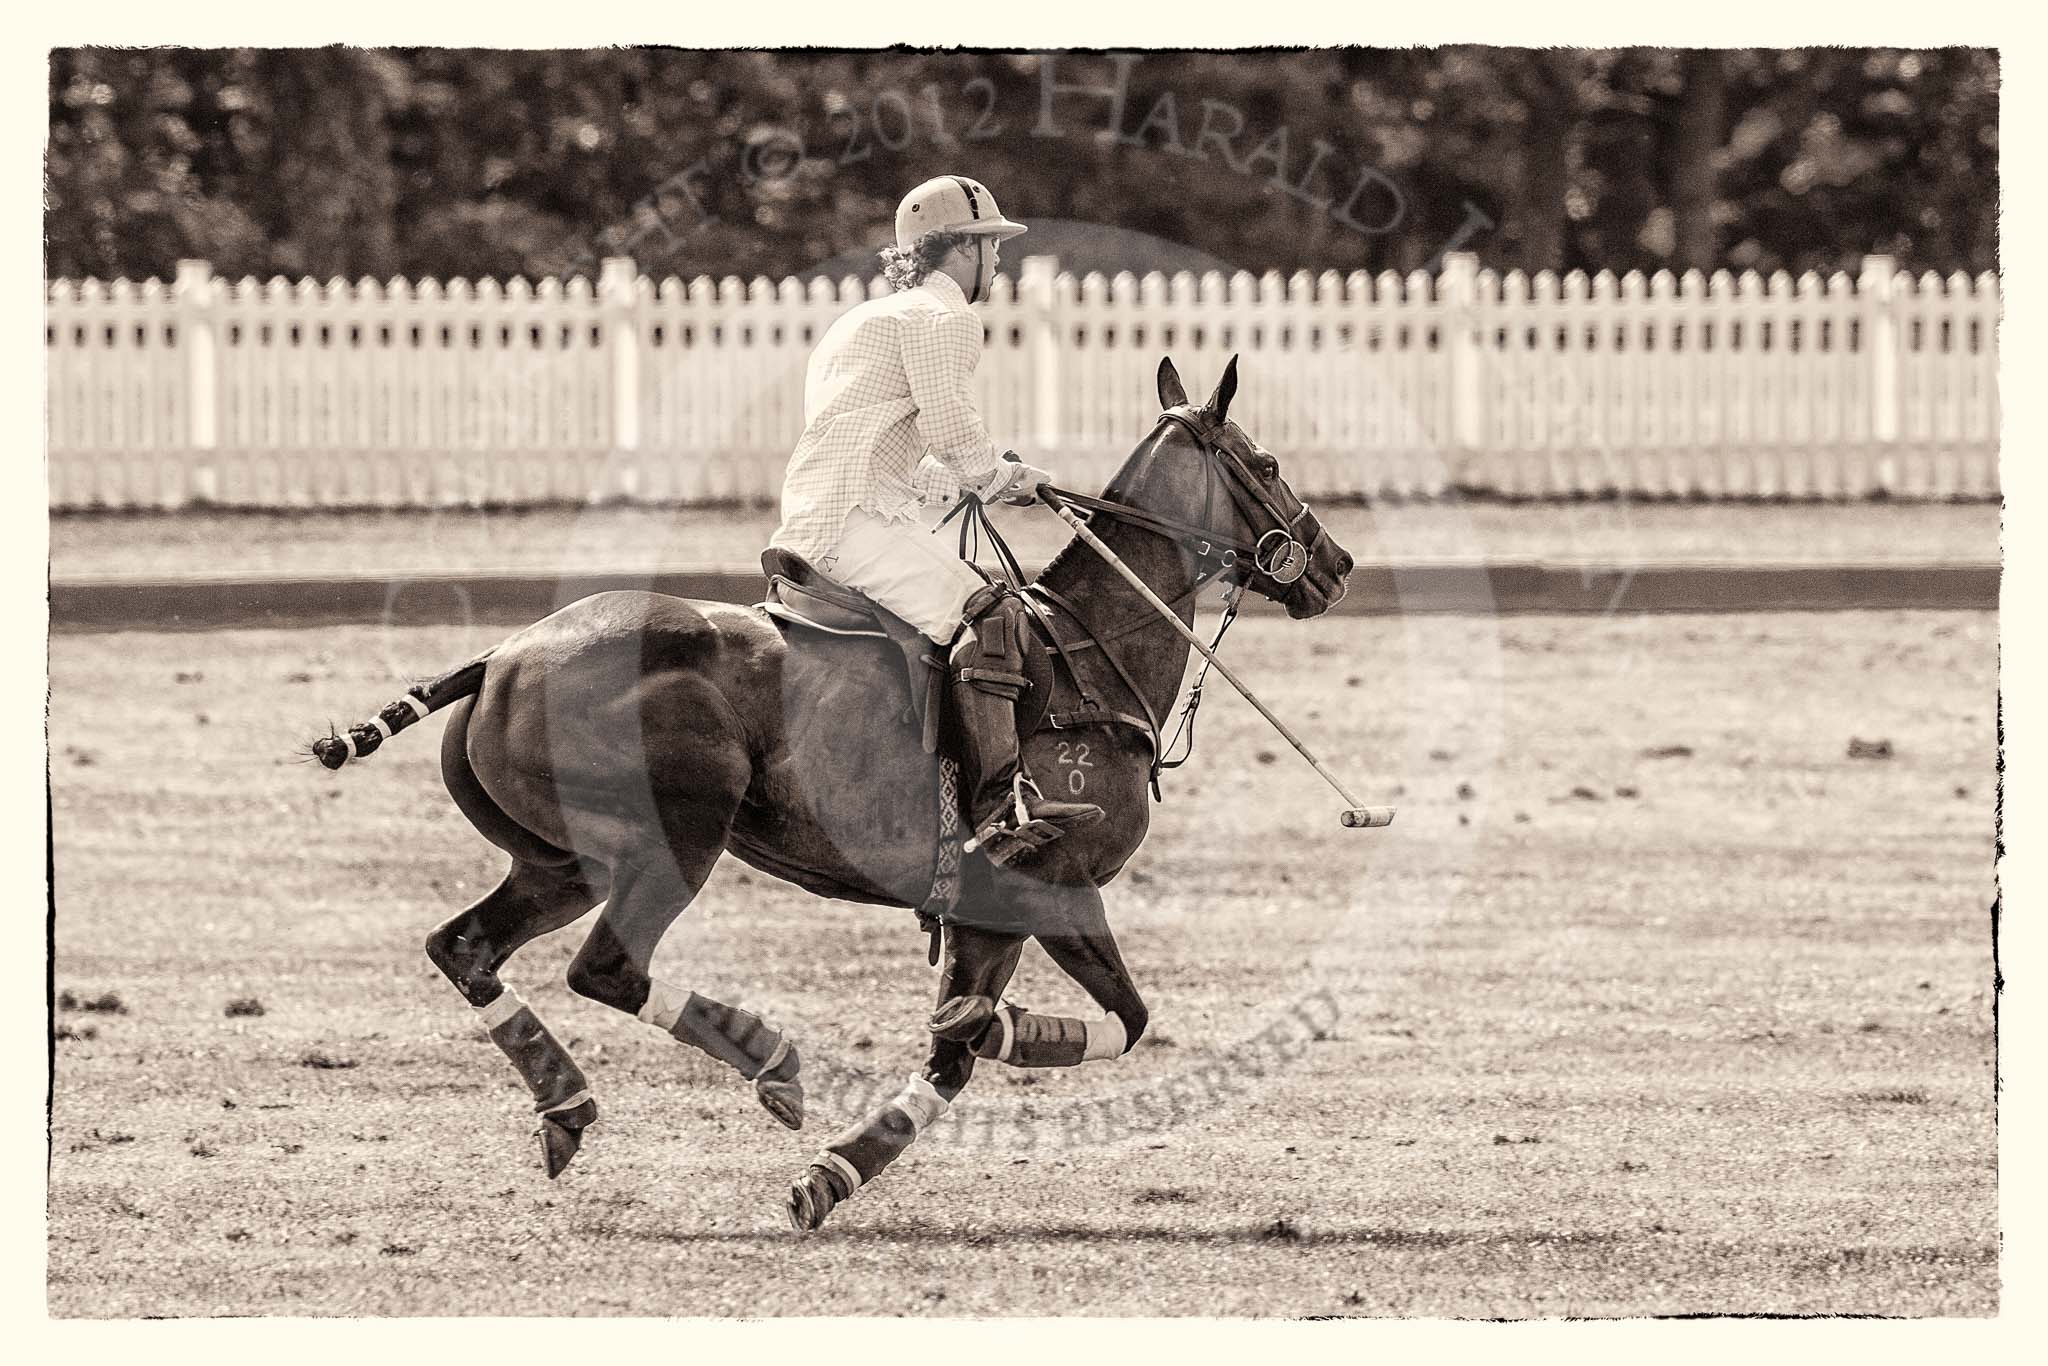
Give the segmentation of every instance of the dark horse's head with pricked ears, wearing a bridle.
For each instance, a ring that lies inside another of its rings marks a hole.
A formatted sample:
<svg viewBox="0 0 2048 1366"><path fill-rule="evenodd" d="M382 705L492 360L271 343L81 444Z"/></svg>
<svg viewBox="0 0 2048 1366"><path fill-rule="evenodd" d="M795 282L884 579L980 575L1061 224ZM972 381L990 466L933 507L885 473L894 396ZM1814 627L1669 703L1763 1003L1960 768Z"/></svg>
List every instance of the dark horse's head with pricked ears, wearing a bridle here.
<svg viewBox="0 0 2048 1366"><path fill-rule="evenodd" d="M1184 510L1214 535L1217 547L1237 547L1219 551L1221 578L1272 598L1288 616L1319 616L1343 598L1352 557L1288 487L1280 461L1231 422L1235 395L1237 356L1202 405L1188 401L1174 360L1159 360L1165 440L1194 446L1204 465L1198 483L1186 481L1198 502ZM1219 489L1225 498L1217 498Z"/></svg>

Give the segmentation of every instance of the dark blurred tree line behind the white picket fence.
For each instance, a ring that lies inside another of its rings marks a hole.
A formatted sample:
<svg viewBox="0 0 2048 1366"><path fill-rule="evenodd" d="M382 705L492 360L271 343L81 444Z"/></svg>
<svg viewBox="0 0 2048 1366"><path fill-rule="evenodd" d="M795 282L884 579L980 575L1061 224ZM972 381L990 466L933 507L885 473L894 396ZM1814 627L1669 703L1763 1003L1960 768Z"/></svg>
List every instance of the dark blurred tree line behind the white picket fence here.
<svg viewBox="0 0 2048 1366"><path fill-rule="evenodd" d="M940 170L1083 268L1997 264L1962 47L59 49L49 121L51 276L844 268Z"/></svg>

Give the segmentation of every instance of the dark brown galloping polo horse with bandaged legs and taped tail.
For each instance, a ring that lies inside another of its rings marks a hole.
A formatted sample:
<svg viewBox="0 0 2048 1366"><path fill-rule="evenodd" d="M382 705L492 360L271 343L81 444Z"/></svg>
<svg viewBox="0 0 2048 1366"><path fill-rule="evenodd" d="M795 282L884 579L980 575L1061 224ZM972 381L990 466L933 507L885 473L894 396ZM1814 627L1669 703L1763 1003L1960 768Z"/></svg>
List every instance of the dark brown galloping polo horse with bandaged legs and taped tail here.
<svg viewBox="0 0 2048 1366"><path fill-rule="evenodd" d="M1163 360L1159 424L1102 498L1069 500L1094 510L1098 535L1184 623L1208 580L1315 616L1343 596L1352 557L1229 420L1235 391L1233 358L1196 408ZM788 1196L797 1229L819 1227L944 1114L977 1057L1071 1067L1118 1057L1145 1032L1145 1001L1100 889L1145 838L1159 717L1180 692L1188 643L1079 543L1026 592L1051 639L1036 643L1034 686L1020 702L1024 764L1106 819L1004 868L963 860L924 1071L799 1176ZM315 756L338 768L449 709L449 795L512 856L512 870L434 930L426 952L532 1090L549 1176L575 1155L598 1108L575 1061L498 971L600 901L569 987L723 1059L778 1120L803 1124L788 1040L647 969L727 850L825 897L926 901L940 803L954 795L942 793L942 768L901 696L893 645L786 629L760 606L608 592L416 686L348 735L315 741ZM1028 938L1104 1010L1100 1020L997 1006Z"/></svg>

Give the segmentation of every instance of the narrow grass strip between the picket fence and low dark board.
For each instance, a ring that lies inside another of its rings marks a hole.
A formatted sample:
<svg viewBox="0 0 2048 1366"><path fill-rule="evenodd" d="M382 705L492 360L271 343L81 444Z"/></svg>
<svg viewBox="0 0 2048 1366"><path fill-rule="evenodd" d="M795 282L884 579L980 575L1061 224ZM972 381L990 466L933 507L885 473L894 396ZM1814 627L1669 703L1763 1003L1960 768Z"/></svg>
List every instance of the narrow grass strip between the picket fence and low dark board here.
<svg viewBox="0 0 2048 1366"><path fill-rule="evenodd" d="M1997 504L1331 504L1333 537L1360 561L1552 559L1995 561ZM1065 528L997 510L1026 559ZM547 508L526 512L176 512L51 520L51 573L637 571L756 565L772 508Z"/></svg>

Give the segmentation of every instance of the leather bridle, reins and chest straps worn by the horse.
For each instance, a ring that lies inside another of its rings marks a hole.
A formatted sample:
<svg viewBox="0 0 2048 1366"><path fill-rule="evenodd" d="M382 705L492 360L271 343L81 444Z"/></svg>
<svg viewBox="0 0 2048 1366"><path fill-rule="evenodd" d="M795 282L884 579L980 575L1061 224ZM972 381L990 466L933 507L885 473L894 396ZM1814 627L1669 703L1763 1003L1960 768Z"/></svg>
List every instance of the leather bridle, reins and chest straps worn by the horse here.
<svg viewBox="0 0 2048 1366"><path fill-rule="evenodd" d="M1223 633L1231 629L1233 621L1237 621L1237 604L1239 598L1243 596L1243 590L1251 586L1262 596L1278 600L1280 596L1284 596L1286 590L1290 590L1290 586L1296 580L1303 578L1303 573L1307 573L1309 565L1315 561L1315 555L1323 549L1323 541L1327 541L1329 532L1321 524L1317 524L1315 537L1309 543L1303 543L1298 537L1298 528L1303 520L1309 516L1309 504L1296 500L1300 502L1300 508L1292 516L1288 516L1286 510L1278 504L1278 500L1274 500L1272 494L1262 485L1257 475L1251 473L1243 457L1239 457L1237 451L1233 451L1227 442L1223 442L1217 436L1214 426L1206 424L1202 420L1200 410L1196 410L1192 403L1180 403L1161 412L1159 426L1165 426L1167 422L1182 426L1194 438L1196 449L1202 453L1204 492L1202 492L1200 526L1194 522L1182 522L1178 518L1161 516L1149 508L1139 508L1135 504L1120 502L1114 498L1075 494L1057 485L1053 485L1051 492L1061 502L1085 508L1094 516L1106 516L1118 522L1126 522L1141 530L1149 530L1157 537L1165 537L1167 541L1174 541L1182 549L1186 549L1196 561L1194 584L1184 594L1174 598L1167 606L1178 610L1184 602L1190 602L1196 594L1200 594L1210 580L1221 578L1227 584L1231 584L1231 594L1223 606L1223 621L1217 625L1217 635L1210 641L1210 653L1214 653L1214 649L1223 645ZM1153 430L1157 432L1159 428L1155 426ZM1231 504L1237 508L1237 514L1243 518L1243 522L1247 526L1260 528L1255 541L1243 541L1239 537L1223 535L1214 530L1214 526L1210 524L1217 508L1219 483L1231 498ZM1196 672L1194 676L1194 684L1188 688L1188 698L1186 702L1182 702L1180 719L1178 725L1174 727L1171 739L1161 739L1157 713L1145 698L1145 692L1137 686L1137 680L1130 678L1130 670L1124 668L1122 659L1116 657L1116 651L1110 649L1110 645L1120 641L1122 637L1133 635L1135 631L1141 631L1149 625L1159 625L1157 614L1145 610L1133 616L1128 623L1120 623L1110 631L1096 631L1081 614L1081 610L1065 596L1061 596L1053 588L1047 588L1044 584L1028 584L1024 580L1024 571L1018 565L1016 555L995 532L995 526L987 520L987 514L981 510L981 502L973 494L961 500L961 508L969 508L969 516L963 518L961 522L963 559L969 557L969 547L967 547L969 532L973 530L977 537L985 532L989 545L995 547L997 561L1010 575L1010 582L1020 586L1018 596L1024 602L1026 610L1030 610L1032 618L1038 623L1047 639L1053 643L1053 651L1059 653L1059 657L1065 661L1067 676L1073 680L1075 692L1079 694L1081 707L1077 711L1049 713L1047 723L1055 729L1065 729L1073 725L1098 725L1104 721L1112 721L1141 729L1151 741L1153 762L1149 780L1153 799L1157 801L1159 772L1167 768L1180 768L1194 756L1194 715L1202 705L1202 684L1208 678L1208 664L1206 661L1202 664L1200 672ZM961 508L954 510L958 512ZM1272 584L1280 592L1268 590L1266 584ZM1063 641L1061 633L1053 625L1051 614L1047 612L1047 606L1059 608L1059 612L1067 616L1081 631L1081 639ZM1128 713L1112 711L1102 705L1102 698L1096 694L1094 688L1090 688L1087 676L1075 666L1073 659L1075 653L1081 653L1085 649L1098 649L1102 653L1102 659L1124 684L1124 688L1137 700L1139 709L1143 709L1145 713L1143 719L1133 717ZM1174 745L1180 743L1182 735L1186 735L1188 741L1186 750L1178 758L1167 758Z"/></svg>

